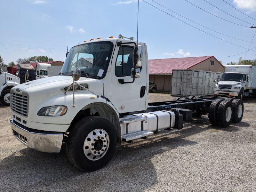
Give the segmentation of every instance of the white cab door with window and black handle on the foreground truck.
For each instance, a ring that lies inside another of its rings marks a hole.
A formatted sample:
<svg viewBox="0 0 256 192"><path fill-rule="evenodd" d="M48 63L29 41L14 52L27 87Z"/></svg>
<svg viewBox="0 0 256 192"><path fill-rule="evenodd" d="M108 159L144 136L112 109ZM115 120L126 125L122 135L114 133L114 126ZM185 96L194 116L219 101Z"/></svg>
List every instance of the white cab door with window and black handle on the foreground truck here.
<svg viewBox="0 0 256 192"><path fill-rule="evenodd" d="M123 40L122 40L123 41ZM124 41L123 41L124 42ZM148 105L148 68L146 50L139 46L142 57L140 77L132 82L131 70L133 68L133 44L123 44L116 47L111 65L111 102L119 113L145 110Z"/></svg>

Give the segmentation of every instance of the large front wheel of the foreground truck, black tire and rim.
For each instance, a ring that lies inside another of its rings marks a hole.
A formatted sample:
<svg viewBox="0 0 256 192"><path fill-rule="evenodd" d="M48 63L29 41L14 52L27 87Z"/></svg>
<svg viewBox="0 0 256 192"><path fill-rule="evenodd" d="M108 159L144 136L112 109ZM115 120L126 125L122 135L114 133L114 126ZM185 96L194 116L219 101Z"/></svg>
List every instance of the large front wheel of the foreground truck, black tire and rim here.
<svg viewBox="0 0 256 192"><path fill-rule="evenodd" d="M66 152L74 166L92 172L108 164L116 144L114 125L105 118L88 116L78 121L69 133Z"/></svg>

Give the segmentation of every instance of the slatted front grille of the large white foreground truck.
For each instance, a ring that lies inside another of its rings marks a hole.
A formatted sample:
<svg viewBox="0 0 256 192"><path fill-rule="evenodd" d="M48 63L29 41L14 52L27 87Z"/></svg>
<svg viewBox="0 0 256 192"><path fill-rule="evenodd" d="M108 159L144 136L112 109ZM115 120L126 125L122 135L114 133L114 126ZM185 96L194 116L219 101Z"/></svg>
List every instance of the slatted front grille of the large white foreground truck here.
<svg viewBox="0 0 256 192"><path fill-rule="evenodd" d="M28 94L11 92L11 110L22 116L28 116Z"/></svg>

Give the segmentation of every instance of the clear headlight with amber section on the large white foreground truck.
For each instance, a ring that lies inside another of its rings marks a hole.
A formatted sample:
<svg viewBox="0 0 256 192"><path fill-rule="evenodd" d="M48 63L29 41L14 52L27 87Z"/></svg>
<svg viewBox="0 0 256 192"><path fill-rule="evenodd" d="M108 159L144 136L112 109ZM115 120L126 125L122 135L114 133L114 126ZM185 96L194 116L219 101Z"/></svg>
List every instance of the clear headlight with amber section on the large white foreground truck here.
<svg viewBox="0 0 256 192"><path fill-rule="evenodd" d="M55 105L41 108L37 115L39 116L62 116L65 115L68 108L64 105Z"/></svg>

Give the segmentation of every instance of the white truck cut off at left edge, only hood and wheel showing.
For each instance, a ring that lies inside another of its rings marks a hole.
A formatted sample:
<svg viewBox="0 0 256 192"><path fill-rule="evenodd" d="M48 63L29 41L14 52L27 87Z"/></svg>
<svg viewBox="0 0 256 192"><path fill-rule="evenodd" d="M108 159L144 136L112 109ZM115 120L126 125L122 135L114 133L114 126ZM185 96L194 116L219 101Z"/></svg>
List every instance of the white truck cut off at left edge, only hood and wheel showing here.
<svg viewBox="0 0 256 192"><path fill-rule="evenodd" d="M10 90L20 84L20 78L10 73L4 72L0 68L0 103L8 106L11 102Z"/></svg>

